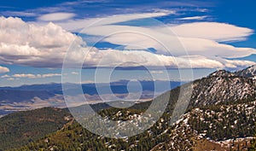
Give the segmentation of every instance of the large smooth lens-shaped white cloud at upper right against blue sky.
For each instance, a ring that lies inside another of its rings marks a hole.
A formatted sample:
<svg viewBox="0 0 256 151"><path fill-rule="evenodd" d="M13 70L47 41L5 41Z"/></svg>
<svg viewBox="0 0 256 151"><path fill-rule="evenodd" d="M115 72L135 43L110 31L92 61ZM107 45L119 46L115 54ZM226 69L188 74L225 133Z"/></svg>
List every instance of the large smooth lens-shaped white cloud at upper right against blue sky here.
<svg viewBox="0 0 256 151"><path fill-rule="evenodd" d="M218 22L195 22L178 26L170 26L170 29L180 37L205 38L218 42L244 40L253 34L253 30Z"/></svg>

